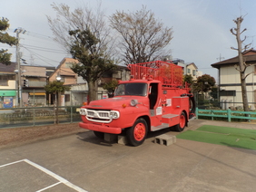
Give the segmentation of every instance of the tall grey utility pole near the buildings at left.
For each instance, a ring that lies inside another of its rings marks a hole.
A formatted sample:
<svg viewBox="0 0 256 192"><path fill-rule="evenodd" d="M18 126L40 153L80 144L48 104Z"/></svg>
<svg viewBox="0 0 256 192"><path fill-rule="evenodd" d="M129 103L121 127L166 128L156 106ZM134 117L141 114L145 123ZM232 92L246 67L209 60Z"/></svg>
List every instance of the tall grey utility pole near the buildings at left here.
<svg viewBox="0 0 256 192"><path fill-rule="evenodd" d="M18 87L18 103L19 107L23 107L23 100L22 100L22 86L21 86L21 62L20 62L20 34L25 34L25 30L21 27L15 29L17 44L16 44L16 68L18 71L18 77L16 78L17 87Z"/></svg>

